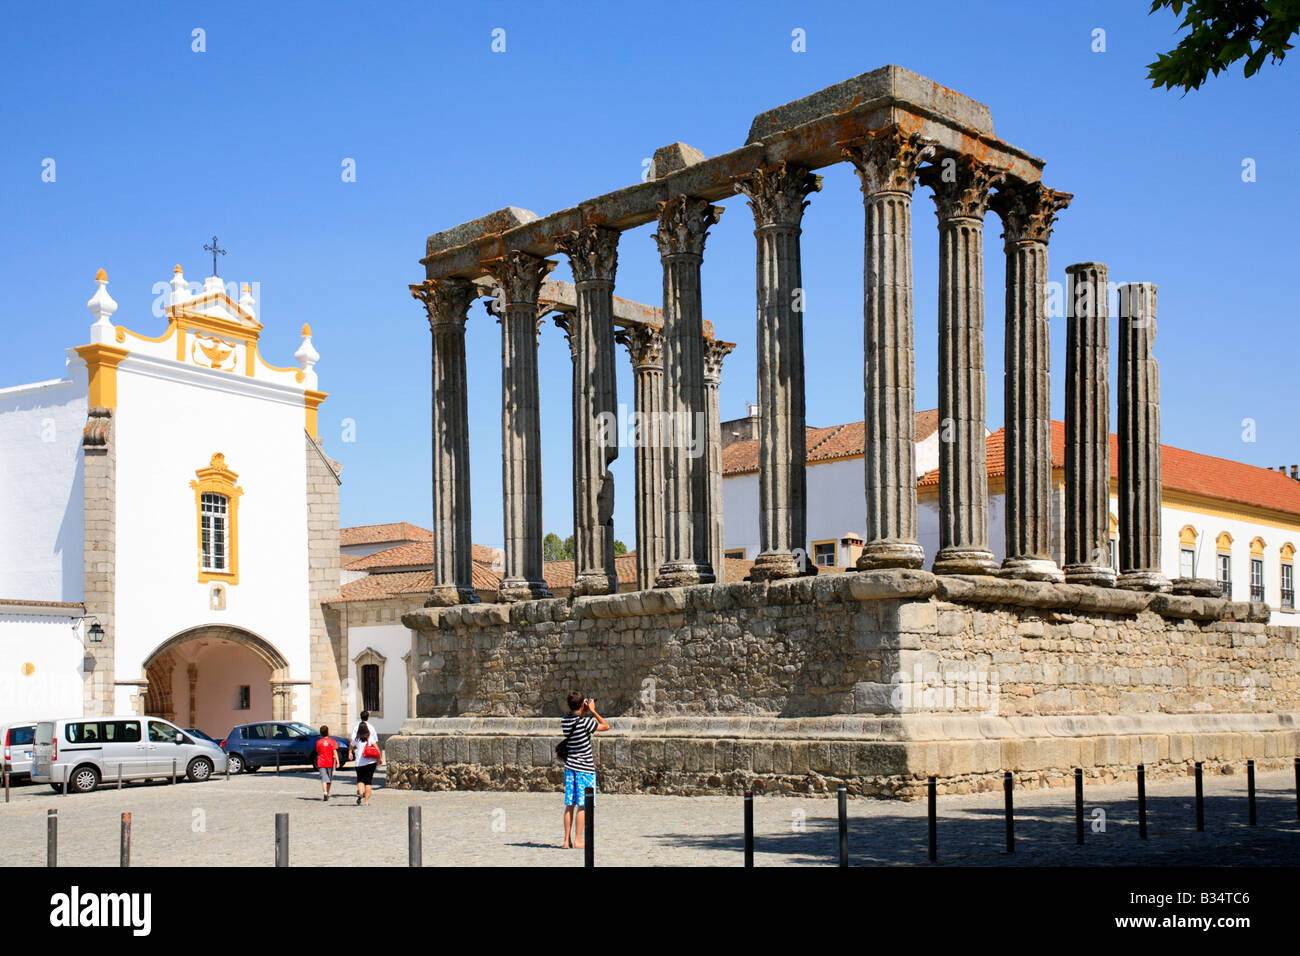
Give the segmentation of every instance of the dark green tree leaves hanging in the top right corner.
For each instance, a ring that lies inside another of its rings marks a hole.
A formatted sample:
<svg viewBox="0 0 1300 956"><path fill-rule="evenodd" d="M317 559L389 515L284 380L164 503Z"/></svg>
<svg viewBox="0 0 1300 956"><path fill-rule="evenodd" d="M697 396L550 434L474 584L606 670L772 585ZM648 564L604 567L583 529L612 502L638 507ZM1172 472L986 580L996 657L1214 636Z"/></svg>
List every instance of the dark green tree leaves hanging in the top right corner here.
<svg viewBox="0 0 1300 956"><path fill-rule="evenodd" d="M1175 17L1186 9L1179 29L1190 31L1147 65L1150 85L1166 90L1197 90L1243 57L1253 77L1266 59L1282 62L1300 31L1300 0L1154 0L1150 13L1164 7Z"/></svg>

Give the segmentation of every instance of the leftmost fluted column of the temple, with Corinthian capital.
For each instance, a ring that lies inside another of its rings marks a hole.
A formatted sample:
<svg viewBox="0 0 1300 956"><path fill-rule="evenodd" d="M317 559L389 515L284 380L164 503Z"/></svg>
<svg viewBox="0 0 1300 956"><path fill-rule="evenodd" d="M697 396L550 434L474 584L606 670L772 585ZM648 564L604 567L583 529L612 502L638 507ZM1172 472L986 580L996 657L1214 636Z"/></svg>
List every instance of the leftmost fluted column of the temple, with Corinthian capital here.
<svg viewBox="0 0 1300 956"><path fill-rule="evenodd" d="M433 333L433 572L425 607L478 604L469 511L469 392L465 317L478 297L463 278L411 286Z"/></svg>

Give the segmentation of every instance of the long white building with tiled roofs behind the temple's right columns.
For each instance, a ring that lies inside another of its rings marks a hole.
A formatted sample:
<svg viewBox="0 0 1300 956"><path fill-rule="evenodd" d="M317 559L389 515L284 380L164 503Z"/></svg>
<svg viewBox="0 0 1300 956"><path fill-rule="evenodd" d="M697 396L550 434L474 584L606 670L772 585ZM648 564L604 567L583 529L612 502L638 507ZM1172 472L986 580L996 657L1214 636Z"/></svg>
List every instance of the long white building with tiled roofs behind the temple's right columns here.
<svg viewBox="0 0 1300 956"><path fill-rule="evenodd" d="M939 414L916 412L916 523L927 566L939 550ZM753 429L724 423L723 432ZM989 549L1006 554L1004 432L988 434ZM866 527L863 423L807 429L806 549L826 568L850 567ZM1110 436L1112 563L1118 554L1118 449ZM1264 601L1273 623L1300 624L1295 553L1300 546L1300 480L1282 470L1162 446L1161 570L1169 578L1213 578L1235 601ZM1065 551L1065 425L1052 423L1052 536ZM753 559L758 546L758 442L723 449L723 515L728 557Z"/></svg>

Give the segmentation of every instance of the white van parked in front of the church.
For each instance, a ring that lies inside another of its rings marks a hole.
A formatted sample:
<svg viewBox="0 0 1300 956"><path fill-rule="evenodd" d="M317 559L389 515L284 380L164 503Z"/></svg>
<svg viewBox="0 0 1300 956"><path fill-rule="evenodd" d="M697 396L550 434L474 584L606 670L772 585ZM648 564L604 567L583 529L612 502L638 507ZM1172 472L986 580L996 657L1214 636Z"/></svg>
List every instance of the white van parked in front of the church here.
<svg viewBox="0 0 1300 956"><path fill-rule="evenodd" d="M64 780L78 793L100 783L168 779L173 774L207 780L224 773L226 754L161 717L69 717L38 721L31 780L61 792Z"/></svg>

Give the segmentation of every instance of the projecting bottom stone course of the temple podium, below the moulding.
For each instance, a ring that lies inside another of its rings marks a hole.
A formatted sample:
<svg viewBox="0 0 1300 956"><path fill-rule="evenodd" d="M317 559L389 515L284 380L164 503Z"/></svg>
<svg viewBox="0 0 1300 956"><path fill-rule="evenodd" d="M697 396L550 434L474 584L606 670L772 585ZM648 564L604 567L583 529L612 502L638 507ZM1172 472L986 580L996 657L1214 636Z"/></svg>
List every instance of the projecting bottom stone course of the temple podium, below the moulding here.
<svg viewBox="0 0 1300 956"><path fill-rule="evenodd" d="M554 791L559 721L425 718L407 721L386 745L387 784L400 790ZM905 800L939 778L944 793L1002 786L1070 786L1205 771L1260 773L1292 766L1297 714L1148 714L1087 717L621 718L595 741L599 788L612 793L833 793Z"/></svg>

